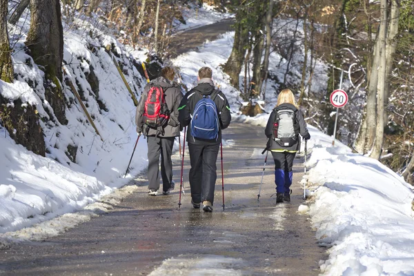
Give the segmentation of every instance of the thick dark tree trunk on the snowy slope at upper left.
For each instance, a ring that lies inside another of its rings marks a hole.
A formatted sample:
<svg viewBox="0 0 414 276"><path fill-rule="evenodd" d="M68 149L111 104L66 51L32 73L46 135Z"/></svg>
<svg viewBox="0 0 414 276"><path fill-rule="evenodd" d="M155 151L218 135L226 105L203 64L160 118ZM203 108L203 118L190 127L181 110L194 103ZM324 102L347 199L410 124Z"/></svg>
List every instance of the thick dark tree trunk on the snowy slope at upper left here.
<svg viewBox="0 0 414 276"><path fill-rule="evenodd" d="M61 89L63 60L63 28L59 0L30 0L30 30L26 46L34 62L43 66L46 100L57 119L66 124L65 102Z"/></svg>

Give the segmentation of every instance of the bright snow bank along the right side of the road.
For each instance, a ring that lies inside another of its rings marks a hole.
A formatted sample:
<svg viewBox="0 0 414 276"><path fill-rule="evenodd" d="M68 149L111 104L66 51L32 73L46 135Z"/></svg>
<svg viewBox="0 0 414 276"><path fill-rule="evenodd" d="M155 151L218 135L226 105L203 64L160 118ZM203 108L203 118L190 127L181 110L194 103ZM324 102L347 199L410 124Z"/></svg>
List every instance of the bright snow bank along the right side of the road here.
<svg viewBox="0 0 414 276"><path fill-rule="evenodd" d="M311 128L312 223L332 246L324 275L414 275L413 187L379 161Z"/></svg>

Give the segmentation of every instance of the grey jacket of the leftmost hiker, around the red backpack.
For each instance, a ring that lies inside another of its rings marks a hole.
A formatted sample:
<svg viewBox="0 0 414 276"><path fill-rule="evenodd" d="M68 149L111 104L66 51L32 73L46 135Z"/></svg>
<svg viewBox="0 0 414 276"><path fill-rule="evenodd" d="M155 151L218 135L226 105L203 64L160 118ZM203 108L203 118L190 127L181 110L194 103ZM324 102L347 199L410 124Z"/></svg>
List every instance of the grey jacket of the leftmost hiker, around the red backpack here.
<svg viewBox="0 0 414 276"><path fill-rule="evenodd" d="M168 81L164 77L157 77L151 81L153 84L161 86L164 90L164 95L168 110L170 110L170 119L168 125L164 128L164 135L158 134L159 137L177 137L179 136L179 121L178 121L178 107L183 95L181 90L175 86L174 83ZM150 90L150 83L144 88L144 91L141 94L137 106L137 113L135 115L135 124L137 125L137 132L143 132L144 130L144 120L142 115L144 115L145 102L148 97L148 91ZM146 133L144 133L146 135ZM148 136L157 135L157 130L149 128Z"/></svg>

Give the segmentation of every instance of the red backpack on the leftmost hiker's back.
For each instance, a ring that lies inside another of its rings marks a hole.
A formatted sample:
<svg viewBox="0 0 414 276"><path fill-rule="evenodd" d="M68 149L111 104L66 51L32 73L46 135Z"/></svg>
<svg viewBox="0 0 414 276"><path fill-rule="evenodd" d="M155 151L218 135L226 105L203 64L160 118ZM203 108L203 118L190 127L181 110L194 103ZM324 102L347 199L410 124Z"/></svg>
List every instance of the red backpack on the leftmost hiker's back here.
<svg viewBox="0 0 414 276"><path fill-rule="evenodd" d="M150 128L164 128L170 119L170 110L161 86L151 83L144 107L144 124Z"/></svg>

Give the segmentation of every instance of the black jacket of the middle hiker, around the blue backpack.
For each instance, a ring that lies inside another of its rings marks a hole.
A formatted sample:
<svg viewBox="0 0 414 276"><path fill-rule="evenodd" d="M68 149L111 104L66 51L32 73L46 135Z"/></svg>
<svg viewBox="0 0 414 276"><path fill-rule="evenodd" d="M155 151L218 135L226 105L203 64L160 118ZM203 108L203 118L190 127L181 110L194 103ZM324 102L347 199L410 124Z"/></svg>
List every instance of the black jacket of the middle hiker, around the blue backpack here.
<svg viewBox="0 0 414 276"><path fill-rule="evenodd" d="M197 102L203 98L203 95L211 95L215 91L214 83L211 79L200 79L199 84L187 92L187 94L182 99L179 104L179 115L178 121L181 128L184 128L190 125L191 115L194 112L195 105ZM230 115L230 106L226 96L223 92L219 91L217 97L213 99L217 106L217 113L219 113L219 137L216 140L204 140L197 139L191 136L190 128L187 128L187 142L190 144L196 145L216 145L221 143L221 130L224 130L230 125L231 115Z"/></svg>

